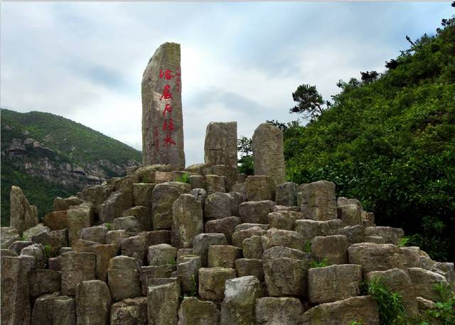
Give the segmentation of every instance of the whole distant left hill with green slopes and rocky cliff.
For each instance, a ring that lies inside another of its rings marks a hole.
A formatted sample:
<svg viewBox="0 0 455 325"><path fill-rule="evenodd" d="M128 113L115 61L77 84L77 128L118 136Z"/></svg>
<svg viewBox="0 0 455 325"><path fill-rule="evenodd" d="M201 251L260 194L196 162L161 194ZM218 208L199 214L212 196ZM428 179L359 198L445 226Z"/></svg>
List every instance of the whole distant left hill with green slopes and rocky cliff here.
<svg viewBox="0 0 455 325"><path fill-rule="evenodd" d="M9 224L13 184L42 217L55 197L122 176L140 162L138 150L62 116L1 109L1 225Z"/></svg>

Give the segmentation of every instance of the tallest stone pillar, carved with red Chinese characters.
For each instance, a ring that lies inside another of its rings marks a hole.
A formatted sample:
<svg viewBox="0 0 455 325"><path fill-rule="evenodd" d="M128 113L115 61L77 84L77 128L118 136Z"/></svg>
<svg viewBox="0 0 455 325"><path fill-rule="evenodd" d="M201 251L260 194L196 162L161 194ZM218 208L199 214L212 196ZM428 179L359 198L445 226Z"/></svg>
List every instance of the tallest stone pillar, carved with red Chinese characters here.
<svg viewBox="0 0 455 325"><path fill-rule="evenodd" d="M180 45L164 43L142 77L142 164L185 167Z"/></svg>

